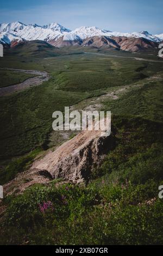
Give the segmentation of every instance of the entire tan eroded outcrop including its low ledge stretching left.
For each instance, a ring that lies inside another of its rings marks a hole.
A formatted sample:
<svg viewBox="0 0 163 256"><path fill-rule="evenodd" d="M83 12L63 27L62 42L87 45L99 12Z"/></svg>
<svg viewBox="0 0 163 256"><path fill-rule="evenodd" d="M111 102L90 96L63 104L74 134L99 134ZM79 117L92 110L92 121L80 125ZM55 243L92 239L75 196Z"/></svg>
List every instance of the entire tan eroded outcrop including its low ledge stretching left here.
<svg viewBox="0 0 163 256"><path fill-rule="evenodd" d="M7 194L14 191L21 193L35 183L45 184L58 178L73 183L87 182L93 168L102 163L111 147L111 136L101 137L101 131L82 131L56 150L34 161L30 169L6 184L4 191Z"/></svg>

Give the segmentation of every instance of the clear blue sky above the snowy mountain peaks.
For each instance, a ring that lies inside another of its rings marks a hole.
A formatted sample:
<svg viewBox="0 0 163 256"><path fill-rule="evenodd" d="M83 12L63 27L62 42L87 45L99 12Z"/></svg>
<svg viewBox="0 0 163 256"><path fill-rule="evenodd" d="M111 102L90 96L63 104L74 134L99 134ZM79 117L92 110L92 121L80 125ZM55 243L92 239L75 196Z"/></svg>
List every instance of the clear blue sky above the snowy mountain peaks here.
<svg viewBox="0 0 163 256"><path fill-rule="evenodd" d="M162 0L8 0L0 23L60 23L70 29L96 26L111 31L163 33Z"/></svg>

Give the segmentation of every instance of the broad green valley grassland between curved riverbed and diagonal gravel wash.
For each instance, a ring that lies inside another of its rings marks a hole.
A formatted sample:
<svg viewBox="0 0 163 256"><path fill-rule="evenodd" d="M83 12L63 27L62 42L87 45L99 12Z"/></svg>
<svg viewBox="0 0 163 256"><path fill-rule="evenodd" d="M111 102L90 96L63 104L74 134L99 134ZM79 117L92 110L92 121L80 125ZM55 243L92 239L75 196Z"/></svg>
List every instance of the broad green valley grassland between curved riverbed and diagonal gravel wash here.
<svg viewBox="0 0 163 256"><path fill-rule="evenodd" d="M17 66L20 64L18 57L16 63ZM15 67L9 57L4 59L3 64ZM54 111L62 111L65 106L101 95L107 88L119 88L124 84L141 81L162 69L160 63L148 64L93 54L72 54L40 61L27 58L21 65L23 69L44 69L49 72L51 79L39 87L0 98L0 119L3 123L0 135L1 159L22 155L35 147L47 145ZM114 108L110 110L114 111Z"/></svg>

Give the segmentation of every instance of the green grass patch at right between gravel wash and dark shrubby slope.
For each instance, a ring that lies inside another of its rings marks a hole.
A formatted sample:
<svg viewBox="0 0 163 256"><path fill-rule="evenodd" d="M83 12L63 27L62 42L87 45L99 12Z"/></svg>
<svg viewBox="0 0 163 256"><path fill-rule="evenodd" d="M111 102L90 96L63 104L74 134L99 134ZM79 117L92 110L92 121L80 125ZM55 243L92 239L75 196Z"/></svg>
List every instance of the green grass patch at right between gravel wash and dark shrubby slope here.
<svg viewBox="0 0 163 256"><path fill-rule="evenodd" d="M104 109L113 114L137 115L150 120L163 121L162 81L148 82L135 87L116 101L105 100Z"/></svg>

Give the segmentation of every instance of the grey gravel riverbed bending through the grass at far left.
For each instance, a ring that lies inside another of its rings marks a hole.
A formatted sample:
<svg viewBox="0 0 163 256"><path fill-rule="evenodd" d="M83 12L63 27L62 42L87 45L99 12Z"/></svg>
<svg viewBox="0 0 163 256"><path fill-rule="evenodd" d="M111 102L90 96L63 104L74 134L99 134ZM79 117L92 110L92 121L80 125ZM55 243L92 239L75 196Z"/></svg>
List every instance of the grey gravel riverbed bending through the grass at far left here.
<svg viewBox="0 0 163 256"><path fill-rule="evenodd" d="M46 71L24 70L24 69L8 69L8 70L23 72L26 74L32 74L36 76L32 78L28 78L22 83L17 83L17 84L14 84L13 86L0 88L0 96L5 96L14 92L19 92L20 90L24 90L32 86L39 86L41 83L48 81L49 79L49 75Z"/></svg>

